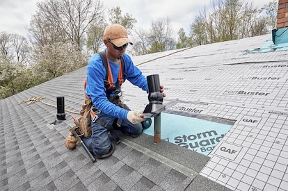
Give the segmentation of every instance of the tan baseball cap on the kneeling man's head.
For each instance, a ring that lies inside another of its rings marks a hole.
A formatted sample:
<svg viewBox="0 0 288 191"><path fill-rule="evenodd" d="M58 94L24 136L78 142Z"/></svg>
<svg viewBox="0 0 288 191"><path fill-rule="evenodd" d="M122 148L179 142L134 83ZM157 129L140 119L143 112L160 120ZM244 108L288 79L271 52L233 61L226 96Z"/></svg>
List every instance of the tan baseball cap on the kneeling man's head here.
<svg viewBox="0 0 288 191"><path fill-rule="evenodd" d="M124 44L133 44L129 40L126 29L120 24L111 24L104 30L104 39L111 40L117 47L121 47Z"/></svg>

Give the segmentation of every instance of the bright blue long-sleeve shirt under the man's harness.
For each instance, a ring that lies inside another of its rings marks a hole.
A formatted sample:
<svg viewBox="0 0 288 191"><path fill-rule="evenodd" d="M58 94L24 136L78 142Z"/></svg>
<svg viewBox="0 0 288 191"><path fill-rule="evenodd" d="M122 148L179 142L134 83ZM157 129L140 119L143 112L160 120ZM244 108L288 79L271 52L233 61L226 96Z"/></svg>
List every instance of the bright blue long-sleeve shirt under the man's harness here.
<svg viewBox="0 0 288 191"><path fill-rule="evenodd" d="M127 79L133 85L136 85L147 92L147 79L142 74L141 70L134 65L130 56L128 56L126 53L122 56L122 58L125 63L125 70L123 72L126 74L126 76L123 76L124 80ZM111 67L113 81L115 84L118 79L120 65L115 65L110 60L109 65ZM95 53L90 58L86 72L87 84L85 93L90 99L92 99L94 106L101 110L102 113L106 113L107 115L127 119L128 111L111 103L106 97L106 88L104 87L104 80L106 80L106 70L99 53Z"/></svg>

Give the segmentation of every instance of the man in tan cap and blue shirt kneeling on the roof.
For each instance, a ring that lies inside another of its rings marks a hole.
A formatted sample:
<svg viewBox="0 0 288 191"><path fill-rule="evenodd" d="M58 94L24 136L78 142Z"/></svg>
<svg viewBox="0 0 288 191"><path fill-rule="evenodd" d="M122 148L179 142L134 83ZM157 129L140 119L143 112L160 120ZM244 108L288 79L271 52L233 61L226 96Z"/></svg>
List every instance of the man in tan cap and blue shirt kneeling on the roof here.
<svg viewBox="0 0 288 191"><path fill-rule="evenodd" d="M120 101L121 84L128 80L148 92L146 77L125 53L128 45L133 44L128 38L126 29L119 24L107 26L104 30L104 44L106 49L102 56L100 53L95 53L90 58L86 70L85 93L86 97L92 100L96 117L91 116L90 119L92 135L90 138L82 138L84 144L98 158L104 158L113 152L109 135L111 131L107 126L114 124L113 127L115 127L117 124L119 130L132 137L143 132L141 124L144 120L143 114L130 110ZM107 63L106 67L105 63ZM160 92L163 93L163 85L161 85ZM163 97L165 96L163 93Z"/></svg>

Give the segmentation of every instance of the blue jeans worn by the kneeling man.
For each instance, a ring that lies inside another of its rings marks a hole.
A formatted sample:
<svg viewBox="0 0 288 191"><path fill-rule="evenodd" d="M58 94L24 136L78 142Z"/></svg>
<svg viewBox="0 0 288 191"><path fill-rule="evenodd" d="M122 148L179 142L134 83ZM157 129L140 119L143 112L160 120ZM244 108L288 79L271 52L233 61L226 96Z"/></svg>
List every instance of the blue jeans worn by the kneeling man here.
<svg viewBox="0 0 288 191"><path fill-rule="evenodd" d="M109 122L109 124L113 125L115 117L106 115L105 113L99 113L98 117L102 120ZM90 126L92 128L92 134L90 138L83 137L82 140L88 149L92 149L92 153L95 156L102 156L106 153L109 153L111 147L111 137L109 135L109 131L106 127L98 124L97 122L93 122L90 119ZM142 133L143 128L142 124L131 124L127 119L122 120L121 131L126 131L128 133L138 135Z"/></svg>

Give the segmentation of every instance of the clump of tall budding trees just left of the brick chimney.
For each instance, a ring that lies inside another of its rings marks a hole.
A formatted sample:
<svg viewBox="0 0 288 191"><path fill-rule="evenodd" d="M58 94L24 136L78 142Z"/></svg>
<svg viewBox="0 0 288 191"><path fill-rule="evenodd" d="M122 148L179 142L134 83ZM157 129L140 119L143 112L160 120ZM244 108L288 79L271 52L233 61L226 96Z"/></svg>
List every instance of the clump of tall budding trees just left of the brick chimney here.
<svg viewBox="0 0 288 191"><path fill-rule="evenodd" d="M264 35L268 26L275 26L277 6L273 3L257 10L253 3L241 0L212 1L209 14L204 11L191 24L190 38L205 44ZM262 13L266 11L266 16Z"/></svg>

